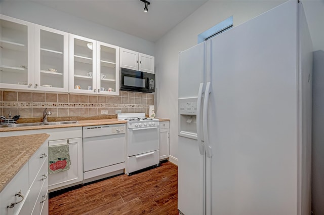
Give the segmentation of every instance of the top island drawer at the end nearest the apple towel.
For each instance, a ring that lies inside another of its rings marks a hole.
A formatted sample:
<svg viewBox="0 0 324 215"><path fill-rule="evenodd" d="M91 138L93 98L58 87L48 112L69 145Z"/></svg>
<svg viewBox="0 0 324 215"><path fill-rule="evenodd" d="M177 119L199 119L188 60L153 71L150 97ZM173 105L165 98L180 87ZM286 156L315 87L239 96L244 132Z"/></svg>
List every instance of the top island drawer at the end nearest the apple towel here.
<svg viewBox="0 0 324 215"><path fill-rule="evenodd" d="M33 183L39 169L48 159L48 142L46 141L29 160L29 187Z"/></svg>

